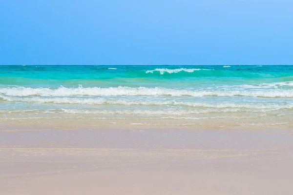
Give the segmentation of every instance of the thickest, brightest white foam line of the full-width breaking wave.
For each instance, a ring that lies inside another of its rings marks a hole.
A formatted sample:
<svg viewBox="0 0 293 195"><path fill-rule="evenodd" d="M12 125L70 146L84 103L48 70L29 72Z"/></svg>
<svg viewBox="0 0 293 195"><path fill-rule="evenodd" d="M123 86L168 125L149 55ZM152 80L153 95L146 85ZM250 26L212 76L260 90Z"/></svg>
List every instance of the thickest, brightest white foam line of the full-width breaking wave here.
<svg viewBox="0 0 293 195"><path fill-rule="evenodd" d="M59 87L50 88L30 88L30 87L8 87L1 88L0 95L11 97L72 97L72 96L191 96L191 97L263 97L263 98L293 98L293 89L290 90L187 90L169 89L162 87L87 87L81 85L78 88Z"/></svg>

